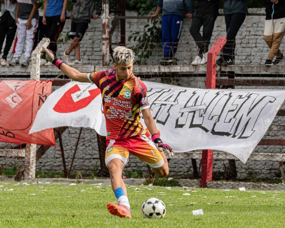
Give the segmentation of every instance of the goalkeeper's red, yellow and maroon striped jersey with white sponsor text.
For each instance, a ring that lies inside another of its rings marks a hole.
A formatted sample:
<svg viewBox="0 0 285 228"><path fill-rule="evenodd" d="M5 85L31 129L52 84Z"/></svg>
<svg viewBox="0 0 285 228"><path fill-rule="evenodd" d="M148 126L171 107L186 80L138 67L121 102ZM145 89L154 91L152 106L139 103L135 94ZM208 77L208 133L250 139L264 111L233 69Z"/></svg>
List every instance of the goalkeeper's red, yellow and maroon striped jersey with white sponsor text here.
<svg viewBox="0 0 285 228"><path fill-rule="evenodd" d="M127 80L118 81L114 69L90 73L88 79L101 90L106 139L123 139L146 133L140 122L140 110L150 105L143 81L133 73Z"/></svg>

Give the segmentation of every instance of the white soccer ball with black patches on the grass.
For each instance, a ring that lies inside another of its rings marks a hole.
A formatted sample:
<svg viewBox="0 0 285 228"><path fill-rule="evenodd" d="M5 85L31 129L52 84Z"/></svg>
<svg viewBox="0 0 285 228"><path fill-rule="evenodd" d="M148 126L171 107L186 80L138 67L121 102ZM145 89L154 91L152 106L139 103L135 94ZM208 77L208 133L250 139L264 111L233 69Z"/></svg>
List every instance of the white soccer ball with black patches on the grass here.
<svg viewBox="0 0 285 228"><path fill-rule="evenodd" d="M165 205L160 199L149 198L143 203L142 215L144 218L159 219L163 218L165 213Z"/></svg>

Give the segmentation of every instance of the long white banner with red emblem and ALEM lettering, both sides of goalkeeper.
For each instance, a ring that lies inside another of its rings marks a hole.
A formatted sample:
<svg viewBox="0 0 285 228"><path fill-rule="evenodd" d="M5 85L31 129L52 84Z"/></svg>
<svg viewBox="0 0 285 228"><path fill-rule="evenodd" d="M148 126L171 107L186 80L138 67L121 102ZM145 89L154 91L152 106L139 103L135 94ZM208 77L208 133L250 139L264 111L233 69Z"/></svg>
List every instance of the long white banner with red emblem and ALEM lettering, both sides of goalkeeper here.
<svg viewBox="0 0 285 228"><path fill-rule="evenodd" d="M175 152L221 150L244 163L285 98L284 90L194 89L144 83L161 139ZM94 84L70 82L53 92L38 111L30 133L73 126L90 127L105 136L100 91L95 88Z"/></svg>

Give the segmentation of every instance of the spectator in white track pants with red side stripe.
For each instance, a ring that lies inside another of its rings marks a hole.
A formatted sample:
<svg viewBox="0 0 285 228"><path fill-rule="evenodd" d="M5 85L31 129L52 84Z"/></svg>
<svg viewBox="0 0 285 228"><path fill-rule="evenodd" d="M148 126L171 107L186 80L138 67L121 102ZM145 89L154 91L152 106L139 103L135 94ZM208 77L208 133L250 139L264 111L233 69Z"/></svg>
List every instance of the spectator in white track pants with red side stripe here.
<svg viewBox="0 0 285 228"><path fill-rule="evenodd" d="M24 54L24 61L22 66L29 66L31 62L31 54L33 44L35 41L35 34L38 27L38 0L18 0L16 6L16 24L17 37L15 40L15 53L10 62L11 66L19 64L19 59L24 50L26 43L26 50Z"/></svg>

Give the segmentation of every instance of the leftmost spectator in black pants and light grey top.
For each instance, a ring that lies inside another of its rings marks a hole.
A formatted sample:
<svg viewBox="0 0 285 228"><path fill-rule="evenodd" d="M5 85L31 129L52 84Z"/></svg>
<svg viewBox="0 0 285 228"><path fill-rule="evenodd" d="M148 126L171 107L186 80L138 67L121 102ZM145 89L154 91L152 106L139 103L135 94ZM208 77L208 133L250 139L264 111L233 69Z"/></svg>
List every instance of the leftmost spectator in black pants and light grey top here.
<svg viewBox="0 0 285 228"><path fill-rule="evenodd" d="M0 0L2 16L0 18L0 53L6 37L6 43L1 58L1 66L7 66L7 55L15 38L16 0Z"/></svg>

